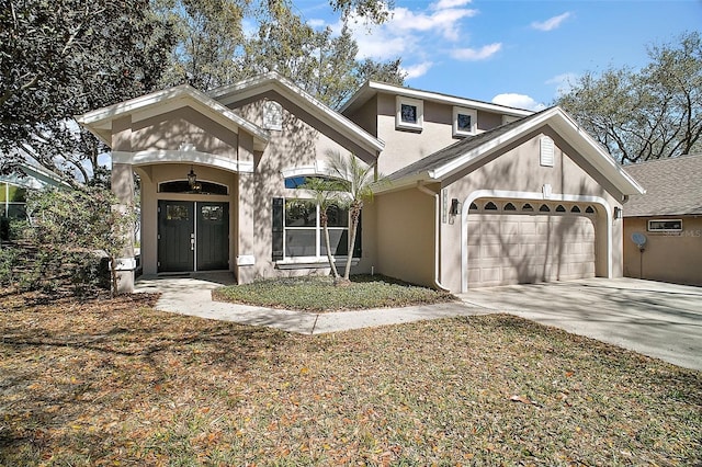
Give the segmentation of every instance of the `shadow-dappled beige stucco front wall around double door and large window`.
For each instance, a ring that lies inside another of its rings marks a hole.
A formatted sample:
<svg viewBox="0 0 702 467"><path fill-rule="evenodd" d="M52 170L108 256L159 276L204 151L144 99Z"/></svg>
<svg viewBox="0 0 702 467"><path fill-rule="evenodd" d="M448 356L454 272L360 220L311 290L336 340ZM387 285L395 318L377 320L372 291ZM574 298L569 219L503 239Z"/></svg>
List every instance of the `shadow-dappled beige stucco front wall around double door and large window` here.
<svg viewBox="0 0 702 467"><path fill-rule="evenodd" d="M260 117L260 102L247 104L238 111L247 116ZM256 118L253 118L256 119ZM230 155L252 162L252 173L237 173L223 170L200 160L197 155L184 153L183 162L172 159L169 163L158 160L136 167L141 178L141 254L145 274L154 274L158 270L158 215L159 200L174 201L226 201L229 203L229 264L241 282L257 277L278 275L325 273L324 264L318 267L299 267L280 270L272 261L272 201L274 197L309 197L302 190L288 190L284 185L283 171L305 168L304 173L314 175L318 161L324 161L330 152L348 153L348 149L338 144L335 135L322 134L317 128L299 119L287 109L283 110L282 130L270 132L270 143L263 152L252 150L251 135L241 132L234 134L222 128L188 109L168 112L138 123L125 122L117 132L121 150L158 152L178 150L182 143L196 146L197 151ZM184 180L190 168L197 173L197 180L225 184L229 187L226 196L158 193L159 183ZM371 261L366 260L366 248L372 250L374 239L366 234L374 230L374 221L364 215L363 248L364 259L355 267L356 271L370 270ZM367 239L366 239L367 237ZM237 257L252 255L254 264L237 266Z"/></svg>

